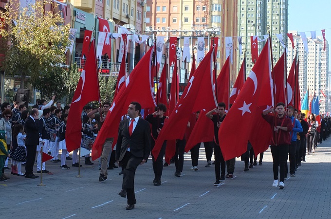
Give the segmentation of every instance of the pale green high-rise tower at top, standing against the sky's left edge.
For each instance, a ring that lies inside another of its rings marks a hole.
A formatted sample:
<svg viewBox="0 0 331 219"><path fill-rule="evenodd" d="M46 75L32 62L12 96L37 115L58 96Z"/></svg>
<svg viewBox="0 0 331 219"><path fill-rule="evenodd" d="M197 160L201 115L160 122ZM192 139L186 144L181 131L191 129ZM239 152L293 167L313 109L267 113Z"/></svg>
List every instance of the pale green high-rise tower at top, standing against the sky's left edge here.
<svg viewBox="0 0 331 219"><path fill-rule="evenodd" d="M251 36L261 40L270 31L274 64L284 52L276 34L283 35L286 42L288 30L288 0L239 0L238 1L238 36L242 37L242 48L246 51L246 74L254 65L251 58ZM258 43L260 53L265 42ZM239 54L237 70L239 71L244 55Z"/></svg>

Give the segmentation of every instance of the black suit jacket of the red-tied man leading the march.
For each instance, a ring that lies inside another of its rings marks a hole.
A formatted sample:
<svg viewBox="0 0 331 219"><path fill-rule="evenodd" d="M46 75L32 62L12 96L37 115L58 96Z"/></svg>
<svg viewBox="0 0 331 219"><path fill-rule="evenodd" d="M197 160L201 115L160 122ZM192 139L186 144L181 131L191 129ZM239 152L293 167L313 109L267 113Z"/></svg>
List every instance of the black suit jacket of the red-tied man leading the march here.
<svg viewBox="0 0 331 219"><path fill-rule="evenodd" d="M122 120L118 128L116 145L116 160L122 161L128 145L130 152L135 157L141 157L147 161L150 153L150 127L149 123L139 118L132 135L129 134L130 119Z"/></svg>

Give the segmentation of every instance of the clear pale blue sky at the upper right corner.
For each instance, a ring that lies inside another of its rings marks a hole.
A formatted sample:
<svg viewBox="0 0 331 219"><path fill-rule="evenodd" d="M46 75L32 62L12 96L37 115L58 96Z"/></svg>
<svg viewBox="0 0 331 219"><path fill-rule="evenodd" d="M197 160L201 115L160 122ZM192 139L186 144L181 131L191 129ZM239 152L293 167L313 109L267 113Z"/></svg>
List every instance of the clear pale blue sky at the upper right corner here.
<svg viewBox="0 0 331 219"><path fill-rule="evenodd" d="M325 36L331 47L331 0L289 0L288 30L298 32L316 31L316 36ZM329 71L331 71L331 54L329 51Z"/></svg>

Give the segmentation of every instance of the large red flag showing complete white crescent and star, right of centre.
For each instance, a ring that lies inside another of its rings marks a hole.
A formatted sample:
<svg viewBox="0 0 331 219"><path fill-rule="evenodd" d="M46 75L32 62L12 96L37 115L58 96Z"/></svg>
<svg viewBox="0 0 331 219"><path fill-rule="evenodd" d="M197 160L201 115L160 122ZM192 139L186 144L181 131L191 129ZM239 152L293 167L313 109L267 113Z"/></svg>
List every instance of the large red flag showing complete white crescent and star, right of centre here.
<svg viewBox="0 0 331 219"><path fill-rule="evenodd" d="M245 153L250 130L260 131L254 121L254 115L258 113L257 107L272 104L269 66L268 40L220 127L219 139L224 160L239 157ZM270 129L270 126L268 128Z"/></svg>

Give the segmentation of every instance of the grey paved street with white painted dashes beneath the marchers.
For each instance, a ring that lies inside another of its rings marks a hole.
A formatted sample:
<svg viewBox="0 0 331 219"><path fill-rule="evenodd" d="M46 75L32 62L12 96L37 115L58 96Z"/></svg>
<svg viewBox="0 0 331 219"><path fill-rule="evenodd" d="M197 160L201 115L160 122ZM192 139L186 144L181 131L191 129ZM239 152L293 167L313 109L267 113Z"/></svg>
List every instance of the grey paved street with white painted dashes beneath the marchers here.
<svg viewBox="0 0 331 219"><path fill-rule="evenodd" d="M319 145L306 156L295 172L285 181L285 188L272 187L273 170L270 149L264 153L263 165L243 172L244 163L237 159L235 178L214 186L214 165L204 167L203 146L200 149L199 171L190 171L190 154L185 154L181 178L174 176L175 166L164 167L161 186L154 186L151 159L137 168L135 209L125 210L127 200L121 198L120 168L109 170L108 181L98 181L98 162L81 168L62 170L59 163L46 163L54 175L43 175L46 186L37 186L38 179L10 174L0 183L1 217L36 219L205 219L205 218L329 218L331 215L331 140ZM34 166L35 175L37 173Z"/></svg>

